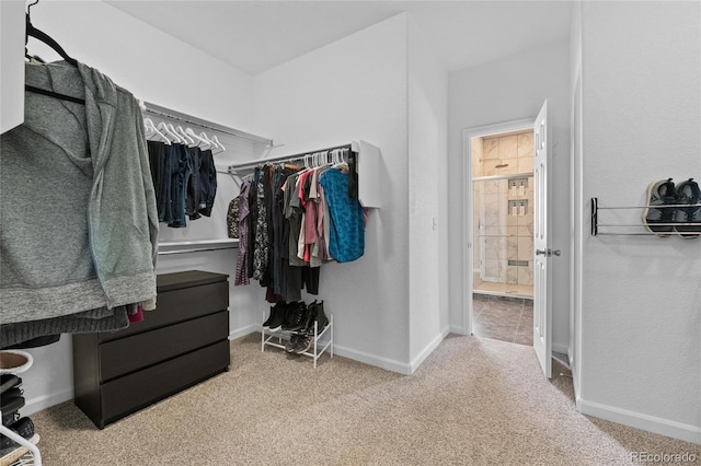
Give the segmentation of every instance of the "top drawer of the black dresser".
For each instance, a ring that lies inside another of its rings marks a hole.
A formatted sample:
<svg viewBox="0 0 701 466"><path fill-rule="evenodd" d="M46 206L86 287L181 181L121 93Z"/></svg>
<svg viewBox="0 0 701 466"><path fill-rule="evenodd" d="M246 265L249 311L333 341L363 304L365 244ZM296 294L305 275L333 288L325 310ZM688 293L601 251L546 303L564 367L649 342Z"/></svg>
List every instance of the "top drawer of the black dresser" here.
<svg viewBox="0 0 701 466"><path fill-rule="evenodd" d="M124 330L100 334L99 341L116 340L228 308L228 281L166 291L158 294L156 310L143 312L143 322Z"/></svg>

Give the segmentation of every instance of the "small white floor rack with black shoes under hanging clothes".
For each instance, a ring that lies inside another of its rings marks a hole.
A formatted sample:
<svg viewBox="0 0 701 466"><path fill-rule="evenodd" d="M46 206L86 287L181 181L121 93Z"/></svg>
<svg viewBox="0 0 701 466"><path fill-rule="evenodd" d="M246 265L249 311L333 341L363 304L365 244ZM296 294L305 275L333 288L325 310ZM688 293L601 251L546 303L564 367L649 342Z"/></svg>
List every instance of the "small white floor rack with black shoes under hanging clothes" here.
<svg viewBox="0 0 701 466"><path fill-rule="evenodd" d="M314 301L308 307L311 312L304 312L304 310L295 310L295 304L285 305L286 307L292 307L291 310L271 310L271 318L265 321L261 328L261 351L265 351L266 346L275 347L285 350L288 353L303 354L313 360L314 369L317 369L317 361L327 350L331 358L333 358L333 314L325 318L323 314L323 307L321 307L322 318L315 317ZM323 306L323 302L319 304ZM276 305L277 307L277 305ZM285 325L269 325L269 322L275 317L274 313L287 312L288 316L285 319ZM299 312L298 312L299 311ZM310 317L309 314L312 314ZM263 313L265 319L265 313ZM307 319L307 325L296 323L296 321ZM291 321L291 322L290 322ZM265 325L265 324L268 325Z"/></svg>

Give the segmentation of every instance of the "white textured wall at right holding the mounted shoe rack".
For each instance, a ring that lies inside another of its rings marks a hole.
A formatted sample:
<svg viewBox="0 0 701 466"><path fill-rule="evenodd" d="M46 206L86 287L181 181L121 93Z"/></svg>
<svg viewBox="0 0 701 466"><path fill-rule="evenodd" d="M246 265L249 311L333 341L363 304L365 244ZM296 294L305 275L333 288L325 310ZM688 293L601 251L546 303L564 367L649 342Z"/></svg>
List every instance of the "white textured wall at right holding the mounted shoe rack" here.
<svg viewBox="0 0 701 466"><path fill-rule="evenodd" d="M584 202L642 206L652 180L701 178L700 8L584 4ZM701 240L583 223L582 411L701 443Z"/></svg>

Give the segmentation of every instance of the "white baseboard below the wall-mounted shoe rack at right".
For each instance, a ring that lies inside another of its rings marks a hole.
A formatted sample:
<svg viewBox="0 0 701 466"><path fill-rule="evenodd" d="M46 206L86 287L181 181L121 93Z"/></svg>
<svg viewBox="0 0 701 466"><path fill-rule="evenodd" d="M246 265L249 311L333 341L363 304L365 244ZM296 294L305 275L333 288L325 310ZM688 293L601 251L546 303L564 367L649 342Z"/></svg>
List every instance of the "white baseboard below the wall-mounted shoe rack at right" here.
<svg viewBox="0 0 701 466"><path fill-rule="evenodd" d="M648 432L658 433L660 435L670 436L673 439L701 444L701 427L670 421L668 419L643 415L642 412L629 411L627 409L601 405L599 403L587 401L582 398L577 399L577 409L579 409L579 412L583 415L594 416L607 421L630 426Z"/></svg>

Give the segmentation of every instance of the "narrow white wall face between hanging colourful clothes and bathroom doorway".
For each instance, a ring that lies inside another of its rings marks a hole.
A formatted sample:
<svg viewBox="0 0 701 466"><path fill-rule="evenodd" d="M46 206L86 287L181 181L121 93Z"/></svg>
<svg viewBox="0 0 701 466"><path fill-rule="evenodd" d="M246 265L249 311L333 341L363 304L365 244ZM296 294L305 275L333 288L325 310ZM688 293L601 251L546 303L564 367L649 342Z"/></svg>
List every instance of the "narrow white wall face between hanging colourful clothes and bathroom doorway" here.
<svg viewBox="0 0 701 466"><path fill-rule="evenodd" d="M412 371L448 334L447 125L444 65L409 18L409 294Z"/></svg>

